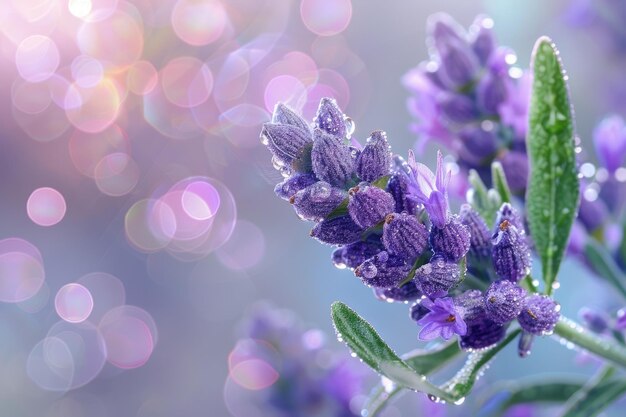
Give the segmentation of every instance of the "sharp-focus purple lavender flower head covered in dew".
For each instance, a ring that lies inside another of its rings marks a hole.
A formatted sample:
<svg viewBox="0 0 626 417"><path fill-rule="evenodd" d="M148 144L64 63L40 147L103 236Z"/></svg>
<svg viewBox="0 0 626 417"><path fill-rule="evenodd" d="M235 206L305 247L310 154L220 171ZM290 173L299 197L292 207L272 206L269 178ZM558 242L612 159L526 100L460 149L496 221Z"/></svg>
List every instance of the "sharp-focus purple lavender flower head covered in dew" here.
<svg viewBox="0 0 626 417"><path fill-rule="evenodd" d="M418 300L411 317L422 340L457 334L464 349L486 348L514 319L528 335L552 331L558 304L519 285L531 258L517 210L503 204L493 229L470 205L452 213L441 153L433 173L412 152L392 155L383 132L360 146L349 120L331 99L312 126L279 104L261 135L287 175L276 194L316 222L311 236L338 247L334 263L381 299Z"/></svg>

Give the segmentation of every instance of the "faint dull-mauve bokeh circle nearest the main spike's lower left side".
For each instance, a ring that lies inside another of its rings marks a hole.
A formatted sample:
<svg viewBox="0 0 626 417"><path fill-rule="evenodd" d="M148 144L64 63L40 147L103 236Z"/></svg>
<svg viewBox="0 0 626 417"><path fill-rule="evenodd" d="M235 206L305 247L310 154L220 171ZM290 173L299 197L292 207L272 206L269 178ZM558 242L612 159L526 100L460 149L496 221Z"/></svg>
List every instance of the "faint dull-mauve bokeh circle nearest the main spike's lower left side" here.
<svg viewBox="0 0 626 417"><path fill-rule="evenodd" d="M230 239L215 254L230 269L252 268L263 259L265 237L254 223L239 220Z"/></svg>

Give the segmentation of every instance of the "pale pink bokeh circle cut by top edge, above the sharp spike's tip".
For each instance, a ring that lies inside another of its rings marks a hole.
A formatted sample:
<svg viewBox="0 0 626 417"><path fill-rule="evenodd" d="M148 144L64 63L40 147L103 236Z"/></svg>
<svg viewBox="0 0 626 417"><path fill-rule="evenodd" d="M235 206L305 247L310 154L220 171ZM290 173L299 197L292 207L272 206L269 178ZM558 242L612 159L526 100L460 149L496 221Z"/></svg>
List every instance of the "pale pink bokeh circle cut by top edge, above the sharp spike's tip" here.
<svg viewBox="0 0 626 417"><path fill-rule="evenodd" d="M351 0L302 0L300 16L304 25L320 36L343 32L352 18Z"/></svg>

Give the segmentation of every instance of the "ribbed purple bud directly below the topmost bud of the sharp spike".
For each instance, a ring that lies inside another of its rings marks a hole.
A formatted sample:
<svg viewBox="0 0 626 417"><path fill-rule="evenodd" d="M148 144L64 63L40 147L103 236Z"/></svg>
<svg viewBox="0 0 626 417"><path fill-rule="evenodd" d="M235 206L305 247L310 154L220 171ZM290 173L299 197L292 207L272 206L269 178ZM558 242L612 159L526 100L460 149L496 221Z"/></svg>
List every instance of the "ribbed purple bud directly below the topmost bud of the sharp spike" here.
<svg viewBox="0 0 626 417"><path fill-rule="evenodd" d="M322 181L335 187L343 187L352 178L354 160L350 148L342 139L315 129L311 161L313 172Z"/></svg>

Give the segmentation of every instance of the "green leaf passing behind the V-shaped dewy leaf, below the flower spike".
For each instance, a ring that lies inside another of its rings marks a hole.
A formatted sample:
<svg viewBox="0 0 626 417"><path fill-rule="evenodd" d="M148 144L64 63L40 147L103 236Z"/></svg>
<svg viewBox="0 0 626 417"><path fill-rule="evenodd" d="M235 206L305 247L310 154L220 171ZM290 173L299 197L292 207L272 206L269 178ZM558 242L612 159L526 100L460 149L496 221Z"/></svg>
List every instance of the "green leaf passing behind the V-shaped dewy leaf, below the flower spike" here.
<svg viewBox="0 0 626 417"><path fill-rule="evenodd" d="M423 350L416 349L405 355L402 355L404 361L416 372L423 375L430 375L450 362L454 361L463 351L459 348L456 340L450 341L436 349ZM375 417L389 401L405 389L397 384L378 384L370 394L365 406L363 407L363 416Z"/></svg>

